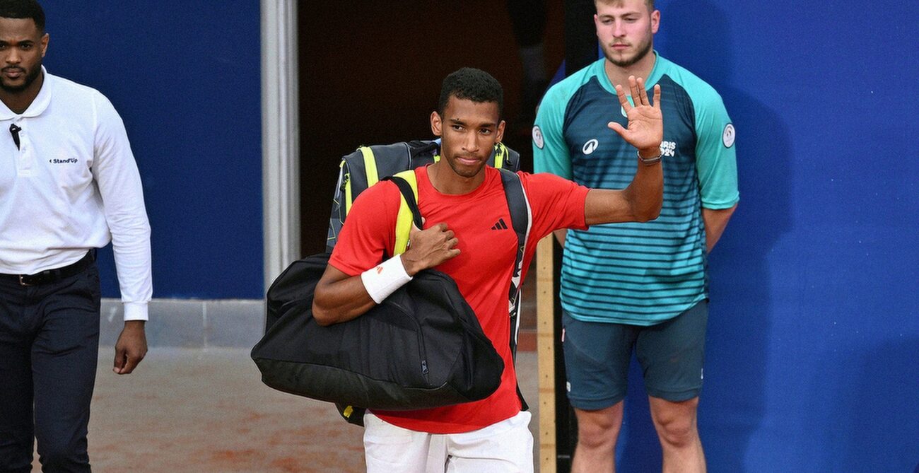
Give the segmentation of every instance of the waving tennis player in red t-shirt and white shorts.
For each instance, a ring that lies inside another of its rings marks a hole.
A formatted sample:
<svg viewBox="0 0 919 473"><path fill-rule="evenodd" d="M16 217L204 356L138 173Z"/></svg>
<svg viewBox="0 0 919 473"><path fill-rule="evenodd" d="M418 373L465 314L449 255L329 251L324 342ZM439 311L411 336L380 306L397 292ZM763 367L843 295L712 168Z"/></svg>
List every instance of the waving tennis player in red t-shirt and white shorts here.
<svg viewBox="0 0 919 473"><path fill-rule="evenodd" d="M555 175L518 173L532 219L523 277L537 242L552 231L657 218L664 187L660 87L654 88L653 106L641 79L630 78L630 89L634 107L617 88L628 128L609 124L610 132L638 150L635 159L641 164L630 186L588 189ZM511 220L500 172L485 165L504 134L503 95L501 84L483 71L463 68L447 76L437 111L431 113L442 159L414 170L424 228L413 228L405 253L383 261L395 240L400 194L388 181L370 187L355 200L316 286L313 317L328 325L359 317L418 271L435 268L456 281L505 361L501 386L484 400L419 411L368 411L369 473L533 471L530 414L521 411L509 343L507 293L517 240L506 224L495 225Z"/></svg>

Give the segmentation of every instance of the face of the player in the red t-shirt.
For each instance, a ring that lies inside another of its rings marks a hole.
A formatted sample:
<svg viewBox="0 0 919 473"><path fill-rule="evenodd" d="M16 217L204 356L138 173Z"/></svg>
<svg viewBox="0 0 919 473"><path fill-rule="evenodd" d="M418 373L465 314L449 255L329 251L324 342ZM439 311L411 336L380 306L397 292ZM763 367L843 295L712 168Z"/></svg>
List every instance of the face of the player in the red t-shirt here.
<svg viewBox="0 0 919 473"><path fill-rule="evenodd" d="M494 143L504 137L505 122L495 102L450 96L443 117L431 114L431 131L441 138L441 158L454 173L469 178L482 172Z"/></svg>

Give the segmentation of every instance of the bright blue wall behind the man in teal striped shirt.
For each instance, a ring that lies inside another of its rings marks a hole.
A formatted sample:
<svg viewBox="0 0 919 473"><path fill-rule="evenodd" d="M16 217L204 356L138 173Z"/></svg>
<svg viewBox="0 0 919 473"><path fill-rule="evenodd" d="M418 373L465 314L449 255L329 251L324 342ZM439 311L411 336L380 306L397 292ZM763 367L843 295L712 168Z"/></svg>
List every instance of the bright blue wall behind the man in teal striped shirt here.
<svg viewBox="0 0 919 473"><path fill-rule="evenodd" d="M919 4L659 0L664 56L738 130L710 258L699 427L713 472L919 465ZM659 470L632 370L618 471Z"/></svg>

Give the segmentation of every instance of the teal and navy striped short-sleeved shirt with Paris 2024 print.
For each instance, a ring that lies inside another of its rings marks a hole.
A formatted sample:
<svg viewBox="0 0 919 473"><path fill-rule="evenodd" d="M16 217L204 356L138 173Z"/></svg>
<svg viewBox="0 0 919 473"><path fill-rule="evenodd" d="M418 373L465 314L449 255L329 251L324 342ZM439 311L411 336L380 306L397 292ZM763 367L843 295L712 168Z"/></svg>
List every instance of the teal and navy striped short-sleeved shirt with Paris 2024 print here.
<svg viewBox="0 0 919 473"><path fill-rule="evenodd" d="M536 172L591 188L629 186L638 160L635 148L607 128L610 120L628 120L604 61L546 93L533 128ZM654 84L661 85L664 114L664 207L651 222L568 231L562 307L581 321L652 325L707 298L701 208L731 208L740 198L734 130L715 89L660 55L649 91Z"/></svg>

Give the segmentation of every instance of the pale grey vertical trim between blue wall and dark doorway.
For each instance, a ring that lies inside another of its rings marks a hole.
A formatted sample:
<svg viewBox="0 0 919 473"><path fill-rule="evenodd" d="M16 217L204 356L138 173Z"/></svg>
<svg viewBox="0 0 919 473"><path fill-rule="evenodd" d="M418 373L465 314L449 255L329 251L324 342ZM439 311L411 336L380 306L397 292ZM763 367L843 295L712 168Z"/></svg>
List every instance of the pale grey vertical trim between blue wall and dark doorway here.
<svg viewBox="0 0 919 473"><path fill-rule="evenodd" d="M300 257L297 1L261 0L265 288Z"/></svg>

